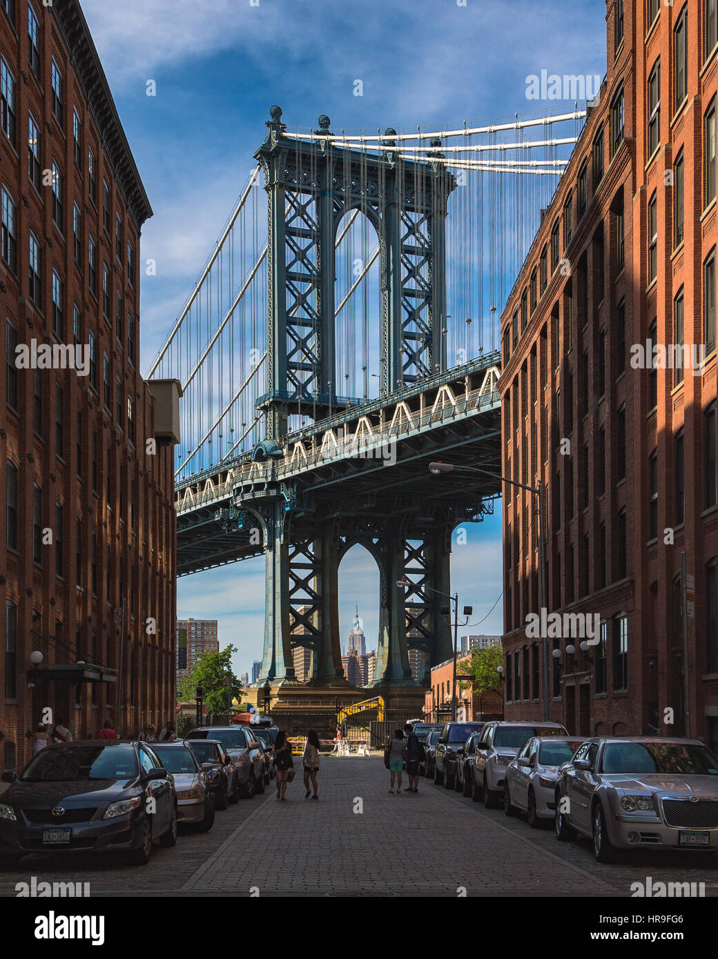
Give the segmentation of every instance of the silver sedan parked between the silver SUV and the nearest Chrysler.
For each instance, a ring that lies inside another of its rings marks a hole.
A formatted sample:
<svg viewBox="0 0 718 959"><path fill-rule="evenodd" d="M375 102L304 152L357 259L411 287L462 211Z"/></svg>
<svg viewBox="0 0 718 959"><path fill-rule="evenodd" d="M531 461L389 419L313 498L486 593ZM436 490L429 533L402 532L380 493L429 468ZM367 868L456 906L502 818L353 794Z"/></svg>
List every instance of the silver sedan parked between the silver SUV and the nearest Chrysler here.
<svg viewBox="0 0 718 959"><path fill-rule="evenodd" d="M534 736L524 743L515 760L506 767L504 812L526 813L529 826L537 829L541 819L554 818L554 797L559 766L571 759L583 739L564 736Z"/></svg>

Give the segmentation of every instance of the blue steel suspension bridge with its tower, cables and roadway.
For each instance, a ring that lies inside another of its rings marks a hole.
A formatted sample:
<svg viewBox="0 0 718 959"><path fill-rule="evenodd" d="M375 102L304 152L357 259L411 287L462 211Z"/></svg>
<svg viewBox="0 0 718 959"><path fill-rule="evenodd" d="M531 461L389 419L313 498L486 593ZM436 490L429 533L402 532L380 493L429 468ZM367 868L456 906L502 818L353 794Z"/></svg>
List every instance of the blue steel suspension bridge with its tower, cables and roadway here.
<svg viewBox="0 0 718 959"><path fill-rule="evenodd" d="M586 110L290 131L278 106L149 378L183 390L178 573L266 556L259 684L342 682L339 565L379 570L374 682L452 654L451 535L493 511L499 317ZM467 479L468 478L468 479ZM404 580L405 589L396 582Z"/></svg>

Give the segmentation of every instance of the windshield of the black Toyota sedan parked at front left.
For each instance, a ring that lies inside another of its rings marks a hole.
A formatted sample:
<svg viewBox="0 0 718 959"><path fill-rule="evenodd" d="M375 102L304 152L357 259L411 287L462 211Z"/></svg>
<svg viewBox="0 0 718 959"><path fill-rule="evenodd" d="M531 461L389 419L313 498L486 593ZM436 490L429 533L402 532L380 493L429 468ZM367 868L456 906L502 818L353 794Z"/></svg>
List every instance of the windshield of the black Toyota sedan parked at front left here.
<svg viewBox="0 0 718 959"><path fill-rule="evenodd" d="M129 745L57 746L43 749L20 779L25 783L67 783L72 780L126 780L137 775Z"/></svg>

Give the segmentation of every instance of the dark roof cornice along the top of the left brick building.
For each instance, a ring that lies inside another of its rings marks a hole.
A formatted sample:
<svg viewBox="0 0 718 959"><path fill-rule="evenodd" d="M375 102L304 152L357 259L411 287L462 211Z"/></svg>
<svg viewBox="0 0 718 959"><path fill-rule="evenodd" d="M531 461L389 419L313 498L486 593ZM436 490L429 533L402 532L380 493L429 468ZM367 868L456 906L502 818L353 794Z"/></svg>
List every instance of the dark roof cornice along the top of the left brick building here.
<svg viewBox="0 0 718 959"><path fill-rule="evenodd" d="M117 184L127 202L137 229L152 215L150 200L132 156L108 79L89 32L78 0L55 0L50 8L70 59L81 82L87 103L97 122L100 137L114 168Z"/></svg>

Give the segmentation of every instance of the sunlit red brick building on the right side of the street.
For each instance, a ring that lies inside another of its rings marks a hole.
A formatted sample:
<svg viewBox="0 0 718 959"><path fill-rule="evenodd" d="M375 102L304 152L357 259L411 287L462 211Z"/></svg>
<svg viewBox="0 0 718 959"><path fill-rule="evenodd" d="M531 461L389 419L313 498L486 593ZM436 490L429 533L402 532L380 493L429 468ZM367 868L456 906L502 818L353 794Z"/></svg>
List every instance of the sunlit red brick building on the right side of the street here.
<svg viewBox="0 0 718 959"><path fill-rule="evenodd" d="M547 641L579 735L683 732L684 552L690 734L718 747L717 42L712 0L609 0L599 103L502 316L504 475L546 488L547 612L598 626ZM540 718L537 498L503 502L506 716Z"/></svg>

